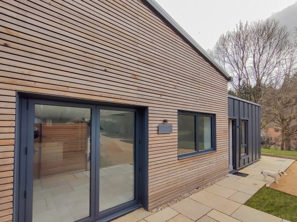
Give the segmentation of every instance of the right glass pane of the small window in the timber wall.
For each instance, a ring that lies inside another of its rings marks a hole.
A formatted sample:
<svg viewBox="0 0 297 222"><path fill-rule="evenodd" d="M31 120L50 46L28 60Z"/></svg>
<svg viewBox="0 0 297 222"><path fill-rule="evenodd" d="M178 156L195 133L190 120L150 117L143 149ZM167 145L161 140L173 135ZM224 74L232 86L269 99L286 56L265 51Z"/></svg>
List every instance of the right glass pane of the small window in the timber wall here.
<svg viewBox="0 0 297 222"><path fill-rule="evenodd" d="M198 118L198 149L212 148L212 118L209 116L199 116Z"/></svg>

